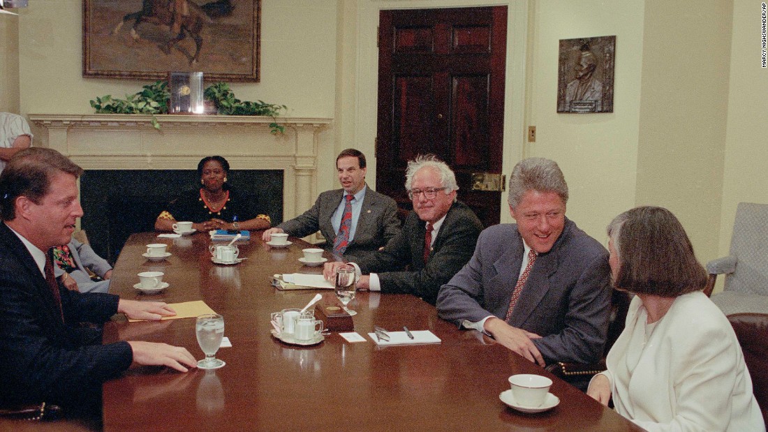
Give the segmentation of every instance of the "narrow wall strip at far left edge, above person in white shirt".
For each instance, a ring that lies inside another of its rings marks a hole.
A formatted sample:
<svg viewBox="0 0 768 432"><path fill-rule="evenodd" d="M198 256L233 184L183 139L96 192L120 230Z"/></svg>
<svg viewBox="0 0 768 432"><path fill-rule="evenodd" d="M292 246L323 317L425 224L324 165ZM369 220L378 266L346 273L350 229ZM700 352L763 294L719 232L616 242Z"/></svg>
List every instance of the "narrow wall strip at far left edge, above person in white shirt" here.
<svg viewBox="0 0 768 432"><path fill-rule="evenodd" d="M18 16L0 15L0 111L18 113Z"/></svg>

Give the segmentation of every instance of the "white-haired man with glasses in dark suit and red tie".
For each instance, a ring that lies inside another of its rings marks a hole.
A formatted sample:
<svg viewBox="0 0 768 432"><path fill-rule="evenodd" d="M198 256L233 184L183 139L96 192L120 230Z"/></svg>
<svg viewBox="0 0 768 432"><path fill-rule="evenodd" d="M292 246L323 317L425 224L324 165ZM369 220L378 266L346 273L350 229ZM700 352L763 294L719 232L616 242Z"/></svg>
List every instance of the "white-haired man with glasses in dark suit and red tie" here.
<svg viewBox="0 0 768 432"><path fill-rule="evenodd" d="M363 274L357 286L412 294L434 305L440 286L472 256L482 223L472 209L456 200L455 174L433 155L408 163L406 190L413 211L402 232L384 249L353 262ZM333 280L333 273L343 265L328 263L323 275Z"/></svg>

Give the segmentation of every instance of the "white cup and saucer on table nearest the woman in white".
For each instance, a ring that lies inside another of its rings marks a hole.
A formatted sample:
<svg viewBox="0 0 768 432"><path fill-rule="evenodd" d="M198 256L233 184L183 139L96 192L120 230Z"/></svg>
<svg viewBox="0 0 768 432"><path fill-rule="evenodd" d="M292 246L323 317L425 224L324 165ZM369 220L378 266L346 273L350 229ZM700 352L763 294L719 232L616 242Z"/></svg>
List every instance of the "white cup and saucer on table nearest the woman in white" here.
<svg viewBox="0 0 768 432"><path fill-rule="evenodd" d="M509 377L509 390L498 398L508 407L524 413L549 411L560 404L560 398L549 392L552 380L536 374L517 374Z"/></svg>

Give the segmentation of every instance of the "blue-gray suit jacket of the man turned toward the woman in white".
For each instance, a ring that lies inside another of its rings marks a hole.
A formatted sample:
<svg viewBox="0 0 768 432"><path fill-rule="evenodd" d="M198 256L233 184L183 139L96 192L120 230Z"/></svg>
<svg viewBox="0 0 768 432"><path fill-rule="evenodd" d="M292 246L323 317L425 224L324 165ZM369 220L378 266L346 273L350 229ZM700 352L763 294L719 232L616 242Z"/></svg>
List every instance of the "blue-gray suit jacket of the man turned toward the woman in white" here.
<svg viewBox="0 0 768 432"><path fill-rule="evenodd" d="M517 225L485 229L472 259L440 289L439 316L458 325L488 315L504 319L523 251ZM605 248L565 219L560 238L536 259L510 325L542 336L533 342L547 363L599 361L611 312L610 275Z"/></svg>

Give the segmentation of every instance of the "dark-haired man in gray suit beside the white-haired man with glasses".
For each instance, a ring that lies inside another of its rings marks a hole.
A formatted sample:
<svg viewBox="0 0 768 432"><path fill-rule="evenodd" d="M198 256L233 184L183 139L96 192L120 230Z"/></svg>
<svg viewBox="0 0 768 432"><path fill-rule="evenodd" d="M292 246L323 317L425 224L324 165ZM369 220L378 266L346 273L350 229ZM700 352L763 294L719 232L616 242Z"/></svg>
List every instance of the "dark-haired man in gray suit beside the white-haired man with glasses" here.
<svg viewBox="0 0 768 432"><path fill-rule="evenodd" d="M311 209L264 231L263 241L269 242L275 232L303 237L319 230L326 239L325 249L355 260L386 245L400 232L395 200L366 184L366 155L343 150L336 157L336 170L342 189L321 193Z"/></svg>

